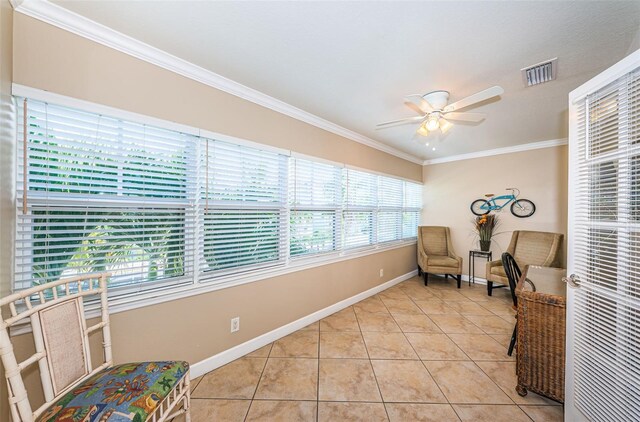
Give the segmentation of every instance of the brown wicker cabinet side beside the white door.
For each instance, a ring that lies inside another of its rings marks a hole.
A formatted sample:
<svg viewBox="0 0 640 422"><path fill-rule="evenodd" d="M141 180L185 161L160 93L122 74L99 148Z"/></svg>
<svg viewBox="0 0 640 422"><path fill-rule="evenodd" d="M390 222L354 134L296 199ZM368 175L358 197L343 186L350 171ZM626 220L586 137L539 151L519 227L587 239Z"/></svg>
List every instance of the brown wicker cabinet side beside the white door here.
<svg viewBox="0 0 640 422"><path fill-rule="evenodd" d="M524 289L518 283L516 391L564 402L566 298ZM535 284L535 280L533 280Z"/></svg>

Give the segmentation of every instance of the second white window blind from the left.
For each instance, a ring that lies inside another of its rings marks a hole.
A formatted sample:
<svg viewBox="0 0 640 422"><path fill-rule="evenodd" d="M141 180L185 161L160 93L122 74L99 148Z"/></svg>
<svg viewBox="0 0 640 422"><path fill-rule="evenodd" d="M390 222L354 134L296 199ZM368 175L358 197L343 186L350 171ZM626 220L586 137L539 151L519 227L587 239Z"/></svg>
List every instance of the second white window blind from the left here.
<svg viewBox="0 0 640 422"><path fill-rule="evenodd" d="M202 139L200 270L211 275L283 264L287 157Z"/></svg>

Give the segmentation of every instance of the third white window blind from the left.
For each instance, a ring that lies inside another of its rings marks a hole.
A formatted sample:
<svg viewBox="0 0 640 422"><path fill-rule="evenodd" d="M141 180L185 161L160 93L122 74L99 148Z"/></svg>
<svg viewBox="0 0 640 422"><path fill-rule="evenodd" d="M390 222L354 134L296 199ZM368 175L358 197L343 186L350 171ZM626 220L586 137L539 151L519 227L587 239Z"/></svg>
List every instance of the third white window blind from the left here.
<svg viewBox="0 0 640 422"><path fill-rule="evenodd" d="M291 257L338 250L342 167L291 158L289 191Z"/></svg>

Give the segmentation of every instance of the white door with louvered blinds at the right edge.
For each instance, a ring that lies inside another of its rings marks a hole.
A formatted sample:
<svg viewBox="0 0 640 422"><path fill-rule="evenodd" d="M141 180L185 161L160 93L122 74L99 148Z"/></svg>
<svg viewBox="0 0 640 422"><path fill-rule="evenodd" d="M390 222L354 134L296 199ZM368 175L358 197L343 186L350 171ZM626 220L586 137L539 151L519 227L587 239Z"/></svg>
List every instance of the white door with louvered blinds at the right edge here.
<svg viewBox="0 0 640 422"><path fill-rule="evenodd" d="M569 96L565 420L640 420L640 50Z"/></svg>

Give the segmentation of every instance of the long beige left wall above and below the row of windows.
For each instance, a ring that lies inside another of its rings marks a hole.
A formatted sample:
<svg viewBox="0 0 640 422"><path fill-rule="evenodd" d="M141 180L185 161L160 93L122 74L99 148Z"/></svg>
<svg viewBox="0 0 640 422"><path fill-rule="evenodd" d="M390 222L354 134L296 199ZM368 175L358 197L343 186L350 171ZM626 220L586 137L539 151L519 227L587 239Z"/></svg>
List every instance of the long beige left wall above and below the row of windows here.
<svg viewBox="0 0 640 422"><path fill-rule="evenodd" d="M86 101L421 180L420 165L233 97L21 14L13 14L12 55L11 25L5 22L11 22L12 11L5 7L8 6L7 0L0 1L3 6L2 77L7 82L3 82L3 94L8 94L8 82L12 79L22 85ZM8 67L5 66L7 64ZM10 136L2 138L2 159L15 155L15 132L10 132ZM0 202L3 224L0 227L2 245L8 247L2 249L0 289L5 291L10 288L13 268L11 257L5 252L10 254L14 243L15 195L11 178L14 171L14 162L2 163ZM198 362L415 270L415 255L415 246L407 246L114 314L114 359L116 362L145 359ZM380 268L384 269L384 278L378 275ZM230 334L229 321L234 316L240 316L241 330ZM29 336L19 336L16 341L18 353L26 356L31 348ZM28 384L34 403L41 400L41 393L33 387L36 381L35 373L31 373ZM4 382L0 385L4 386ZM0 420L7 420L4 391L0 396L0 406Z"/></svg>

